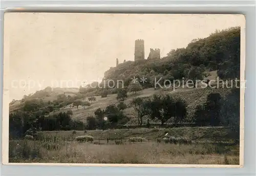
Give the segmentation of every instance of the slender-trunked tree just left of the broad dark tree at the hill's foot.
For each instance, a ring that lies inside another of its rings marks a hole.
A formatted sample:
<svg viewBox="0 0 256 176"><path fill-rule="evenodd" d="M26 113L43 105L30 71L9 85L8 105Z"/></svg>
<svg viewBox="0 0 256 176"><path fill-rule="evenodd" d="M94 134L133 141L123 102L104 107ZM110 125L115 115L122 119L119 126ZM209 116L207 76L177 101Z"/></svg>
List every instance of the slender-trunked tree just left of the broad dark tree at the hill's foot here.
<svg viewBox="0 0 256 176"><path fill-rule="evenodd" d="M148 115L150 112L150 100L145 100L142 98L134 98L131 101L131 106L134 108L134 110L138 113L138 125L142 125L142 118L145 115Z"/></svg>

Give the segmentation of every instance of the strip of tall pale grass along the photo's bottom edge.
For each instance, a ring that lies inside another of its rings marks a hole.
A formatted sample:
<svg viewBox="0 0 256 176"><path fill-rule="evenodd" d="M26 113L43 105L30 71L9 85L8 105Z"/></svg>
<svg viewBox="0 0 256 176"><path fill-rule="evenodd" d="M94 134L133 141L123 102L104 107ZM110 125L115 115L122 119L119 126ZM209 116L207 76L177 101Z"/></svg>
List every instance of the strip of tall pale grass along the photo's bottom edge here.
<svg viewBox="0 0 256 176"><path fill-rule="evenodd" d="M239 146L156 142L105 145L11 140L9 162L118 164L239 164Z"/></svg>

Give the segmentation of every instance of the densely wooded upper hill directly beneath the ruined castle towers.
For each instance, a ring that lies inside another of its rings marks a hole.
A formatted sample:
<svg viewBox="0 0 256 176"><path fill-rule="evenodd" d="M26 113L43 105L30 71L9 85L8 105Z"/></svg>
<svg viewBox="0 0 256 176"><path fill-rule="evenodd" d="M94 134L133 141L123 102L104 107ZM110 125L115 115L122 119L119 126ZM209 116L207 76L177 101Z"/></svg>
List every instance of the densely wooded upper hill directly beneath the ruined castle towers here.
<svg viewBox="0 0 256 176"><path fill-rule="evenodd" d="M131 78L161 76L167 79L189 78L191 69L218 70L221 78L240 77L240 27L216 31L207 38L194 39L186 48L171 50L161 60L138 60L120 63L106 71L106 79L125 80ZM145 85L146 86L146 85Z"/></svg>

